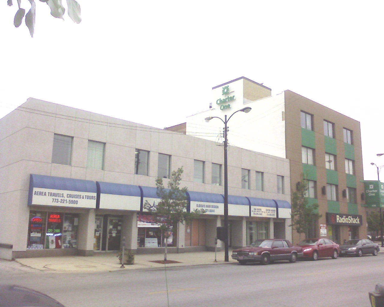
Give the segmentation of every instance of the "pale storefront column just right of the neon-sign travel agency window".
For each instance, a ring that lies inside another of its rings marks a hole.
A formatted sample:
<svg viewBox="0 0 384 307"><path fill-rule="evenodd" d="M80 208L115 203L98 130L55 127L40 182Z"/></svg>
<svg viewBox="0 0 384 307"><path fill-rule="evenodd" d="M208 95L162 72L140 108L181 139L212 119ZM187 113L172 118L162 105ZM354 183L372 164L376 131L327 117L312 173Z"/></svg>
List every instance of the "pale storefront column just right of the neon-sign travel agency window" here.
<svg viewBox="0 0 384 307"><path fill-rule="evenodd" d="M95 217L96 210L94 209L80 214L78 228L78 254L80 256L93 255Z"/></svg>

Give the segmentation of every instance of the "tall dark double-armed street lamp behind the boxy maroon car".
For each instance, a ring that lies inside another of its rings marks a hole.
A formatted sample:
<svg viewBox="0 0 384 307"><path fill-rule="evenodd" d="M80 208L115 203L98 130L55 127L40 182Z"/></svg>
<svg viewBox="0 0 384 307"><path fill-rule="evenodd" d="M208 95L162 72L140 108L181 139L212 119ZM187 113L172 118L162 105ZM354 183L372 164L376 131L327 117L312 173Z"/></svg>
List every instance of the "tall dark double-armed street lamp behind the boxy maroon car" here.
<svg viewBox="0 0 384 307"><path fill-rule="evenodd" d="M227 115L224 116L224 120L222 120L220 117L217 116L210 116L205 118L205 122L209 122L213 118L218 118L224 123L224 230L225 230L225 254L224 254L224 261L229 261L228 256L228 155L227 155L227 147L228 147L228 127L227 123L233 116L233 114L237 112L245 112L248 113L251 111L252 108L245 107L243 109L237 110L236 112L233 112L230 117L227 119Z"/></svg>

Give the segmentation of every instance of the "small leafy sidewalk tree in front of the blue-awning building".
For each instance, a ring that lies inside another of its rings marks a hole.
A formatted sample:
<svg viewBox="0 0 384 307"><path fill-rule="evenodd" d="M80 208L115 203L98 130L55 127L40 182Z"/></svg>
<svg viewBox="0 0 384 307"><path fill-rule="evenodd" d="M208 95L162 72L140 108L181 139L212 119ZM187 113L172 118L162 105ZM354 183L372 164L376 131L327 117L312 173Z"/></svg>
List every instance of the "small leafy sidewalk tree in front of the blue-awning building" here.
<svg viewBox="0 0 384 307"><path fill-rule="evenodd" d="M185 220L197 218L204 213L202 210L187 212L187 192L188 188L180 188L181 174L183 168L180 167L177 171L173 171L168 189L164 188L163 179L156 178L156 194L160 201L156 206L151 205L148 201L144 203L144 208L154 215L156 223L160 224L161 237L165 238L165 254L164 261L167 261L167 239L170 232L174 230L177 224L184 223Z"/></svg>

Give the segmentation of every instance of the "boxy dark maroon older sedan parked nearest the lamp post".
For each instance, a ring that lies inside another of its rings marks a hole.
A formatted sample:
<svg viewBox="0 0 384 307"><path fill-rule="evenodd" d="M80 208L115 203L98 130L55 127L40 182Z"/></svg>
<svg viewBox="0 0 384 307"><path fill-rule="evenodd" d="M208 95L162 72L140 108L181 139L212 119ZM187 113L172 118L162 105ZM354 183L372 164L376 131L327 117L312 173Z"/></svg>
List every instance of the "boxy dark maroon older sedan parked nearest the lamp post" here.
<svg viewBox="0 0 384 307"><path fill-rule="evenodd" d="M296 262L296 259L302 256L303 249L299 246L292 246L291 242L285 239L260 239L250 246L232 251L232 259L237 260L240 264L247 262L268 264L275 260Z"/></svg>

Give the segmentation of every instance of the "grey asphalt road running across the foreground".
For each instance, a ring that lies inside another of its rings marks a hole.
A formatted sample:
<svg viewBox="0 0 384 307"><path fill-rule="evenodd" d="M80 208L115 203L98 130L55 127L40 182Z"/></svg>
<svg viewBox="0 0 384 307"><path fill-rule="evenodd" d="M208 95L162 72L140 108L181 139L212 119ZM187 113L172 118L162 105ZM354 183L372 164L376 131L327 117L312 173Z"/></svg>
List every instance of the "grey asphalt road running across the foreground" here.
<svg viewBox="0 0 384 307"><path fill-rule="evenodd" d="M384 254L115 272L51 273L0 262L0 282L44 292L66 307L370 306Z"/></svg>

